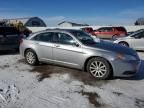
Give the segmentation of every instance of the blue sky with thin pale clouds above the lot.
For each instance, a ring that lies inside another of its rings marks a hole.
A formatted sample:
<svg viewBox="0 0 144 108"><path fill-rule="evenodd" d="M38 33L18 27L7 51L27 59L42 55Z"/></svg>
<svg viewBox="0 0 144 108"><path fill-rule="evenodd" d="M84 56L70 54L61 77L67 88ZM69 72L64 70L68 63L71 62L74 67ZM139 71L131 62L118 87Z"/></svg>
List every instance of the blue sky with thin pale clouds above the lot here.
<svg viewBox="0 0 144 108"><path fill-rule="evenodd" d="M61 21L133 25L144 17L144 0L1 0L0 18L38 16L48 26Z"/></svg>

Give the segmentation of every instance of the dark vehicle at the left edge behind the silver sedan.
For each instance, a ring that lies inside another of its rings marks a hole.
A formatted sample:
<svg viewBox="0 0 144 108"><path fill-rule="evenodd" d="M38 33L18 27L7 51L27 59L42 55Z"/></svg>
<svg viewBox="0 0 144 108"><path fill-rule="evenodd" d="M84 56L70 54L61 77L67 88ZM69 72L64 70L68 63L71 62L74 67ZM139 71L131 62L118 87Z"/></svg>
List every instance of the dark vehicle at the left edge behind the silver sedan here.
<svg viewBox="0 0 144 108"><path fill-rule="evenodd" d="M22 37L15 27L0 27L0 50L19 49Z"/></svg>

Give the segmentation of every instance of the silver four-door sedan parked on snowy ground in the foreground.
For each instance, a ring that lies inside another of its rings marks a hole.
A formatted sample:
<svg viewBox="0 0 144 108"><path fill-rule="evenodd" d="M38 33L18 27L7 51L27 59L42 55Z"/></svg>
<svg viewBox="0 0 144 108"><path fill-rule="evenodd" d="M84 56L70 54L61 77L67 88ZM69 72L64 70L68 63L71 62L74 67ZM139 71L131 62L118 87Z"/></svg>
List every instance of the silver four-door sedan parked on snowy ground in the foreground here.
<svg viewBox="0 0 144 108"><path fill-rule="evenodd" d="M45 30L23 39L20 53L30 65L54 63L83 69L96 79L132 76L140 59L136 51L110 42L95 40L81 30Z"/></svg>

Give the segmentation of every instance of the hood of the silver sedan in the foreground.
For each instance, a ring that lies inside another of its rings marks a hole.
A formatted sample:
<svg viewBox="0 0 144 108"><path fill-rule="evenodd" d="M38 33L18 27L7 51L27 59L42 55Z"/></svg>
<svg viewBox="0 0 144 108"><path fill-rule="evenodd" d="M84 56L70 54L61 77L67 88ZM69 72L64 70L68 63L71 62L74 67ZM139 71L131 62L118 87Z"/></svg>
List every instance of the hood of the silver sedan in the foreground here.
<svg viewBox="0 0 144 108"><path fill-rule="evenodd" d="M127 54L127 55L133 55L133 56L136 55L136 52L131 48L118 45L115 43L111 43L111 42L102 41L102 40L96 44L92 44L89 46L93 48L99 48L99 49L121 53L121 54Z"/></svg>

